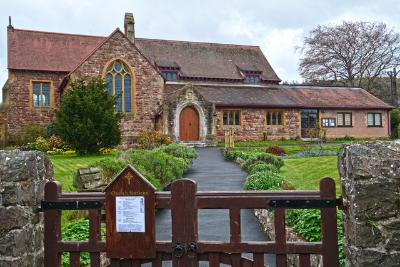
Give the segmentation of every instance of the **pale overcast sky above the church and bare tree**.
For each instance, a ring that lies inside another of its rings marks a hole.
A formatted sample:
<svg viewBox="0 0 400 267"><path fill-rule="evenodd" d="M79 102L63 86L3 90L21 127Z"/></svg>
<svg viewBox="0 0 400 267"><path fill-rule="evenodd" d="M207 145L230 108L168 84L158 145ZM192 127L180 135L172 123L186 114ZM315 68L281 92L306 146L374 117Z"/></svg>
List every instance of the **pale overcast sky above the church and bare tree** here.
<svg viewBox="0 0 400 267"><path fill-rule="evenodd" d="M399 0L1 0L0 86L8 16L15 28L109 35L135 16L136 36L259 45L283 81L301 81L295 47L318 24L383 21L400 31Z"/></svg>

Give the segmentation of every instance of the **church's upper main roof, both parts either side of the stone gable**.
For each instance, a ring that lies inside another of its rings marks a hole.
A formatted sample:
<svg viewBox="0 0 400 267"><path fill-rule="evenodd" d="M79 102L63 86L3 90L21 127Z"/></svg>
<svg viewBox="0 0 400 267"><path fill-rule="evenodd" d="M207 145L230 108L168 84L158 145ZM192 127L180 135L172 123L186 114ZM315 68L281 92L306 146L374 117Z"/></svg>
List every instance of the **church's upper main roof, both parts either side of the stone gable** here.
<svg viewBox="0 0 400 267"><path fill-rule="evenodd" d="M70 72L105 39L14 29L8 32L8 68ZM280 81L258 46L145 38L135 45L154 65L179 69L183 79L241 81L243 72L256 71L262 80Z"/></svg>

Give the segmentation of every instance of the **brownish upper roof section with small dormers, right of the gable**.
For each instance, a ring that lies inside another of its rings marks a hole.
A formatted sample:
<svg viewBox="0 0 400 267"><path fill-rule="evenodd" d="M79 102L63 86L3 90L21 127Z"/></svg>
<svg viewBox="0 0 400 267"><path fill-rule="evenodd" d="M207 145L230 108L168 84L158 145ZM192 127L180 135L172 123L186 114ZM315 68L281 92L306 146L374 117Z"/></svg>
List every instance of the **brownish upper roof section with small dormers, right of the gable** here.
<svg viewBox="0 0 400 267"><path fill-rule="evenodd" d="M183 77L243 80L240 70L254 70L262 71L263 80L280 82L258 46L144 38L135 45L152 61L176 62Z"/></svg>

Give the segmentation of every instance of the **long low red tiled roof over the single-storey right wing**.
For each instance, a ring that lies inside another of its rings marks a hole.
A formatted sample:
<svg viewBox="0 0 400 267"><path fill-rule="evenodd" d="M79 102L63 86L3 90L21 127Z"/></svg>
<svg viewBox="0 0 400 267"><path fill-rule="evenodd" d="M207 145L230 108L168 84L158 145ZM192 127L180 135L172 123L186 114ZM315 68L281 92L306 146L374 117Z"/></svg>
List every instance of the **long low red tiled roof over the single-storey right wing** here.
<svg viewBox="0 0 400 267"><path fill-rule="evenodd" d="M182 87L181 85L180 87ZM199 93L217 106L266 108L391 109L392 106L361 88L317 86L244 86L194 84ZM178 84L167 83L167 92Z"/></svg>

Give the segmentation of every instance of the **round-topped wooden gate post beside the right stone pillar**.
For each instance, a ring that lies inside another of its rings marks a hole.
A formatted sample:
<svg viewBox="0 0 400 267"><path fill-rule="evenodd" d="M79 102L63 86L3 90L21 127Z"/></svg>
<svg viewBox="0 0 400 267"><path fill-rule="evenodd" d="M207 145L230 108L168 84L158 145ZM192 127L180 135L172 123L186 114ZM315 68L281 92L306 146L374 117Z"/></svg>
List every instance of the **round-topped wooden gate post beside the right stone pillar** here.
<svg viewBox="0 0 400 267"><path fill-rule="evenodd" d="M335 181L326 177L319 183L321 198L336 199ZM339 266L336 206L321 209L322 262L324 267Z"/></svg>

